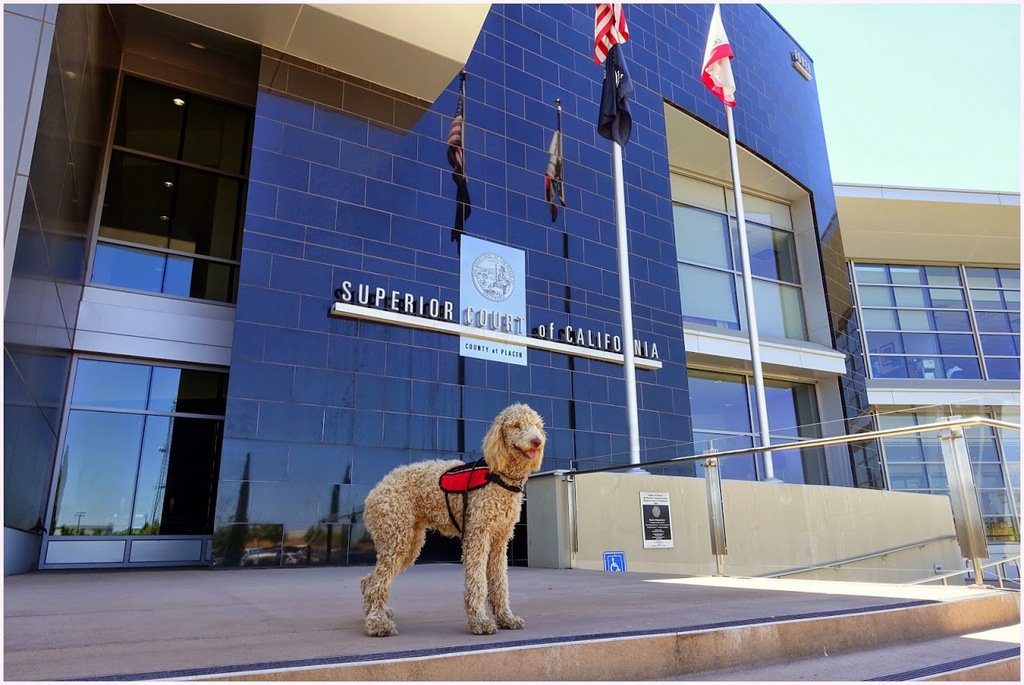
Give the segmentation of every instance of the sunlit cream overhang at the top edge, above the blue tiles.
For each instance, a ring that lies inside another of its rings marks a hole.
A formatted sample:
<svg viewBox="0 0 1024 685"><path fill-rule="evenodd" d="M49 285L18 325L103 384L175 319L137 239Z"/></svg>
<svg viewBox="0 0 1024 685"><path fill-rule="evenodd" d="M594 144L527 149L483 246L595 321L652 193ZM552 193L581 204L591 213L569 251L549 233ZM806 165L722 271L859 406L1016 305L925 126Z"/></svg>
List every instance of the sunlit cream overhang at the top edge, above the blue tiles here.
<svg viewBox="0 0 1024 685"><path fill-rule="evenodd" d="M433 102L463 69L484 4L152 4L160 12Z"/></svg>

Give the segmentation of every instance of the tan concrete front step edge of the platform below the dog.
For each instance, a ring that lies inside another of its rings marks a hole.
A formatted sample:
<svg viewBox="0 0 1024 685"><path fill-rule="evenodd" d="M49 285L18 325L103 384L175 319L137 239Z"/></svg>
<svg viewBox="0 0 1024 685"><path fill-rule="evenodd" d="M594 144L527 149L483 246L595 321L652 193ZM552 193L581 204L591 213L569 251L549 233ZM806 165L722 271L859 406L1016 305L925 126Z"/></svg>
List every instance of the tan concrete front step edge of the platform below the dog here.
<svg viewBox="0 0 1024 685"><path fill-rule="evenodd" d="M802 587L793 581L768 585L779 588L786 583ZM924 670L943 663L951 665L943 673L963 670L965 659L972 658L987 659L986 665L1008 661L1004 672L1019 675L1019 635L1016 643L1009 644L968 637L1019 625L1019 599L1015 593L979 590L948 601L880 600L866 607L768 615L680 630L562 636L426 653L391 652L197 674L190 679L898 680L912 678L897 676L919 670L928 673ZM1009 632L999 635L1006 639Z"/></svg>

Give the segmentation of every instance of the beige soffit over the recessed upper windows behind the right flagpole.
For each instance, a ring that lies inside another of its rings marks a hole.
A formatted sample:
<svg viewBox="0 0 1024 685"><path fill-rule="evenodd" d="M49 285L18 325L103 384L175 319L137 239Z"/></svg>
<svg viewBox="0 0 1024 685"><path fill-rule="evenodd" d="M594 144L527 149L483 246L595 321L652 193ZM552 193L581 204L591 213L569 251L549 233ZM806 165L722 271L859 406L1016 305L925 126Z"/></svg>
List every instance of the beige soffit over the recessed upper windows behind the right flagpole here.
<svg viewBox="0 0 1024 685"><path fill-rule="evenodd" d="M669 164L732 185L729 166L729 138L701 121L665 104L665 128L669 139ZM796 202L807 191L764 160L736 146L739 179L744 190L754 190L780 200Z"/></svg>

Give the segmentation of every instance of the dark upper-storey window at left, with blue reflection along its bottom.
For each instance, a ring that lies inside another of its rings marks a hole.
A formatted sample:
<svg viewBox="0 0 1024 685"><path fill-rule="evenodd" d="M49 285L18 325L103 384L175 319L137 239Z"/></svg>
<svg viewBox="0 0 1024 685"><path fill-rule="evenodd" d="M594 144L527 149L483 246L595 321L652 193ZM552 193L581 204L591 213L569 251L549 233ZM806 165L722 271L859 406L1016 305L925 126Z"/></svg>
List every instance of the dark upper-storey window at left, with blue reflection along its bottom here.
<svg viewBox="0 0 1024 685"><path fill-rule="evenodd" d="M125 79L92 283L234 301L251 120L238 105Z"/></svg>

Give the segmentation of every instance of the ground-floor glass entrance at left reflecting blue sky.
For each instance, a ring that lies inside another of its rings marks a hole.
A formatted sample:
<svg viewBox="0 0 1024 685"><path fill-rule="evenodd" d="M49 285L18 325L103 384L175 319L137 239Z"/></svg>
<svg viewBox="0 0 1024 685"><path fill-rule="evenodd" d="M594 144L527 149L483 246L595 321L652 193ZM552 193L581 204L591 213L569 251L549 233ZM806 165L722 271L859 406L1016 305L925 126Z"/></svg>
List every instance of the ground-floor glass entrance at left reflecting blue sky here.
<svg viewBox="0 0 1024 685"><path fill-rule="evenodd" d="M221 372L79 359L40 565L208 558L226 386Z"/></svg>

